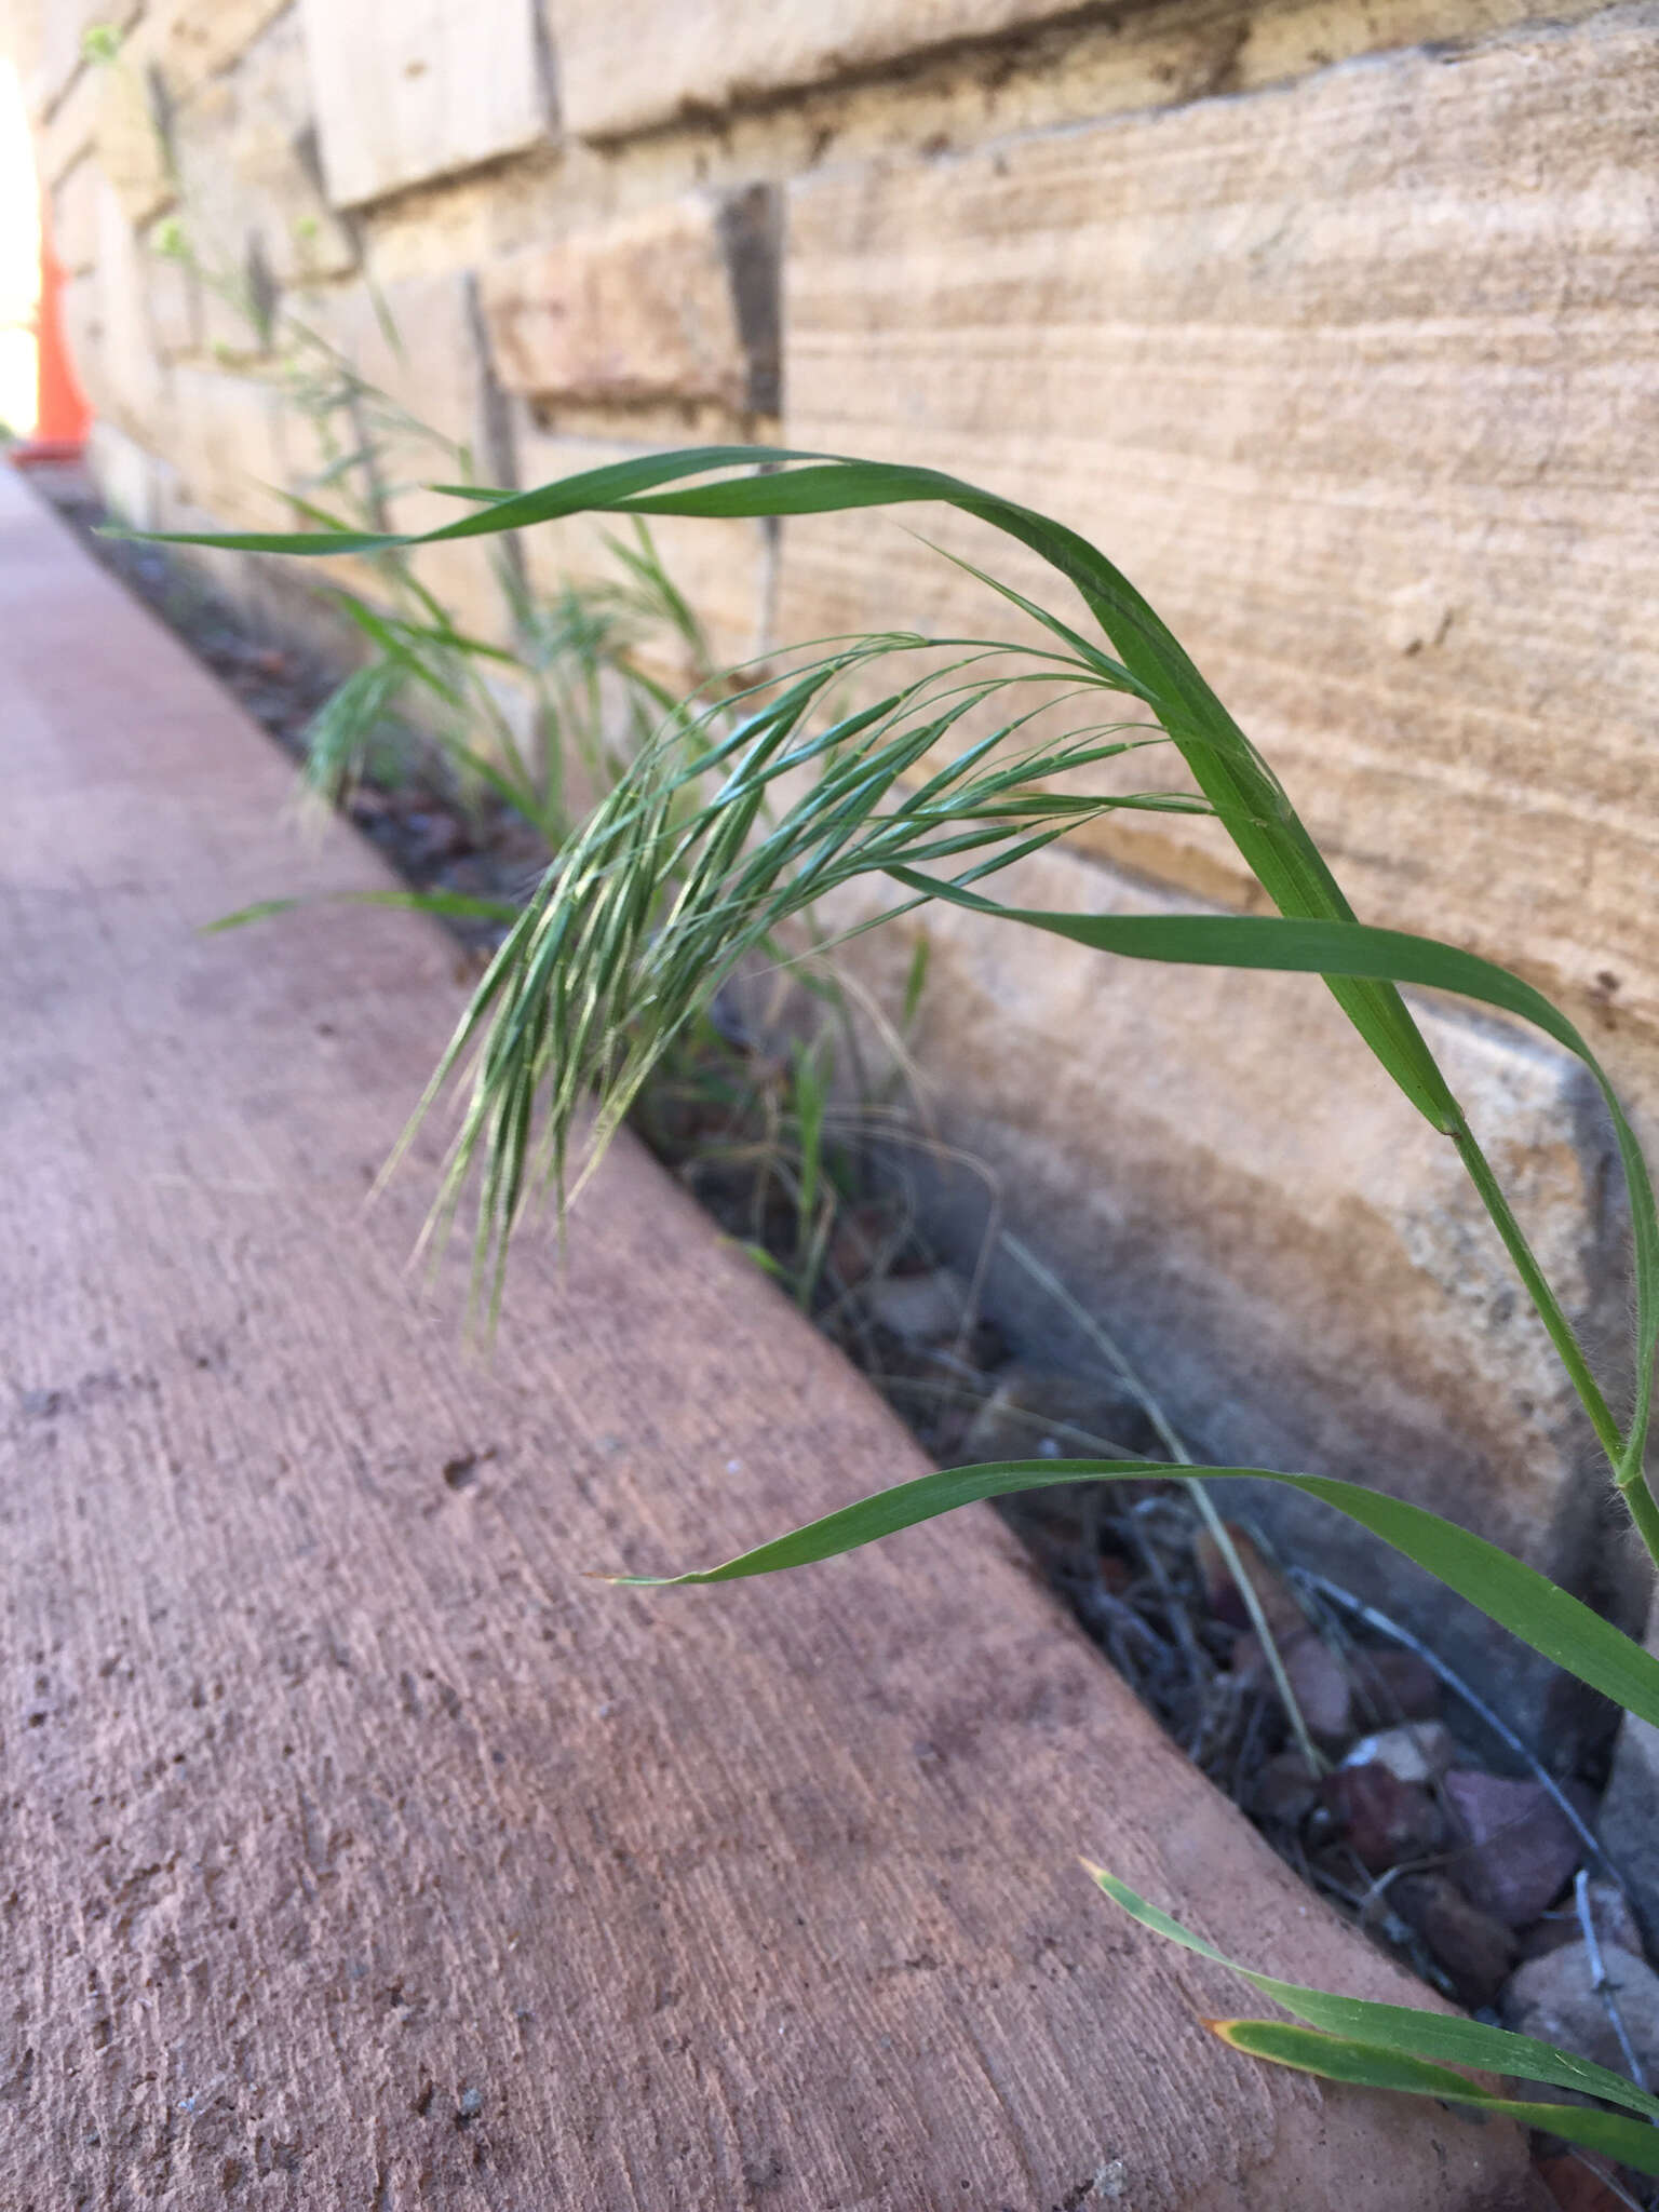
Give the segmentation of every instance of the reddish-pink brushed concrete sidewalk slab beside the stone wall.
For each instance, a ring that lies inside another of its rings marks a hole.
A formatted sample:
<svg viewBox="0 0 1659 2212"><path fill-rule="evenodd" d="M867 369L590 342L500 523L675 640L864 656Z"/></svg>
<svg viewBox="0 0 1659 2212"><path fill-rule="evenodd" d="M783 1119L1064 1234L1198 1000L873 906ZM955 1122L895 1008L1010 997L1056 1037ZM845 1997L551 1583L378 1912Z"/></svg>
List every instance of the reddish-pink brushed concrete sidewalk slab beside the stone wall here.
<svg viewBox="0 0 1659 2212"><path fill-rule="evenodd" d="M920 1471L630 1144L489 1365L363 1208L458 1006L292 770L0 469L0 2205L1533 2205L1513 2130L1232 2057L1413 1986L989 1511L611 1590ZM1248 2006L1243 2006L1248 2008Z"/></svg>

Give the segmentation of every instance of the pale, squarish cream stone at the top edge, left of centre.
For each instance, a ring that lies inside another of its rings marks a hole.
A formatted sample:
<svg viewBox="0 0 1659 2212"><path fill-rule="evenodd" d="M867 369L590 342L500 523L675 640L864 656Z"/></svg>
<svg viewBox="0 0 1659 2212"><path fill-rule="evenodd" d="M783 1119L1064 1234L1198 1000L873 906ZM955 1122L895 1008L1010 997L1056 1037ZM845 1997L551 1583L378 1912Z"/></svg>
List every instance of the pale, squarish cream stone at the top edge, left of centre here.
<svg viewBox="0 0 1659 2212"><path fill-rule="evenodd" d="M301 18L336 206L546 137L533 0L301 0Z"/></svg>

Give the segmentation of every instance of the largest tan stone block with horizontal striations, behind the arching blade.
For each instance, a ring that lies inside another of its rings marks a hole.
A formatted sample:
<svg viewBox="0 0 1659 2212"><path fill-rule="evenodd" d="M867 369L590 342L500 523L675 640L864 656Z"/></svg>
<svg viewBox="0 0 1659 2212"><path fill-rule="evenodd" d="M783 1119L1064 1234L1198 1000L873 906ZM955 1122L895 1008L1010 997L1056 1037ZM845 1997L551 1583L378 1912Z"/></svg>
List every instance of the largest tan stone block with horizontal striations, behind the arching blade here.
<svg viewBox="0 0 1659 2212"><path fill-rule="evenodd" d="M1615 11L1455 69L1409 53L805 179L787 442L964 473L1097 538L1365 916L1652 1033L1657 100L1659 42ZM984 622L902 520L792 526L781 633ZM1066 606L1006 540L925 526ZM1203 823L1099 845L1248 889Z"/></svg>

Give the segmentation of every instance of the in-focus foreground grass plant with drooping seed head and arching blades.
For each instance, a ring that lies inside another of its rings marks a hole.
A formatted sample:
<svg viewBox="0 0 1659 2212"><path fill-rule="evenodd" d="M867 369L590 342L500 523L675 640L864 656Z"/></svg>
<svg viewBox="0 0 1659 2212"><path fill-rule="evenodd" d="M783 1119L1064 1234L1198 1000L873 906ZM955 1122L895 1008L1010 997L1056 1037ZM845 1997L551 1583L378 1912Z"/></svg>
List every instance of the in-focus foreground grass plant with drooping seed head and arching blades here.
<svg viewBox="0 0 1659 2212"><path fill-rule="evenodd" d="M883 635L790 657L748 690L670 712L639 743L557 852L511 925L438 1068L465 1106L440 1212L476 1203L476 1261L500 1285L509 1239L538 1192L562 1203L615 1133L650 1071L706 1020L759 947L776 947L814 900L887 885L885 914L947 900L987 920L1051 931L1104 953L1170 964L1276 969L1323 978L1383 1073L1455 1148L1495 1234L1577 1391L1630 1522L1659 1559L1648 1489L1659 1219L1637 1139L1579 1031L1511 971L1453 945L1360 925L1276 776L1128 580L1044 515L929 469L776 449L708 447L595 469L524 493L451 487L465 511L422 538L374 529L212 535L248 553L383 555L498 535L580 511L619 515L814 515L945 502L1022 542L1082 599L1055 613L1002 586L1040 644ZM989 584L989 580L987 580ZM852 701L852 703L849 703ZM1179 759L1168 785L1077 792L1102 763ZM1000 905L984 885L1018 858L1108 810L1206 812L1232 838L1274 916L1119 918ZM1624 1166L1635 1254L1635 1383L1617 1420L1509 1197L1400 987L1451 991L1542 1029L1593 1073ZM597 1099L597 1119L588 1108ZM805 1099L812 1099L807 1086ZM821 1117L807 1104L803 1128ZM812 1241L816 1175L801 1172ZM737 1559L661 1577L726 1582L805 1566L909 1528L975 1498L1057 1482L1124 1482L1150 1460L1002 1460L880 1491ZM1659 1661L1566 1590L1482 1537L1383 1491L1274 1469L1181 1467L1203 1484L1237 1475L1290 1484L1369 1528L1522 1641L1659 1725ZM1113 1902L1170 1942L1232 1966L1113 1876ZM1659 2101L1619 2075L1469 2020L1360 2004L1234 1966L1298 2024L1208 2022L1239 2051L1340 2081L1464 2101L1659 2174ZM1502 2097L1455 2068L1571 2088L1595 2106Z"/></svg>

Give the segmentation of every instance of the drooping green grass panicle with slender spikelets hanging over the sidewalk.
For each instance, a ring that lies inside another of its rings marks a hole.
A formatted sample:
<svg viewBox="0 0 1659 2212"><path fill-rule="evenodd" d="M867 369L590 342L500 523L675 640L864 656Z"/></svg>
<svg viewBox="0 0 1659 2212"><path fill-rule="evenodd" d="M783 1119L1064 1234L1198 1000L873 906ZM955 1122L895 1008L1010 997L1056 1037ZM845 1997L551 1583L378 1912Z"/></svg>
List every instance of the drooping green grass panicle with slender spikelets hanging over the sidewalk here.
<svg viewBox="0 0 1659 2212"><path fill-rule="evenodd" d="M838 692L894 659L925 666L874 703L836 710ZM1073 655L1033 666L998 641L883 637L757 686L726 737L708 714L697 745L679 723L657 732L549 869L436 1077L442 1086L471 1055L442 1203L451 1210L482 1168L478 1261L491 1292L522 1208L549 1186L564 1197L588 1102L593 1164L723 982L843 885L880 876L898 894L902 872L938 865L971 883L1110 810L1203 812L1179 790L1053 787L1164 741L1139 719L1075 728L1079 701L1102 692L1115 695L1110 679ZM998 717L1011 695L1015 710Z"/></svg>

